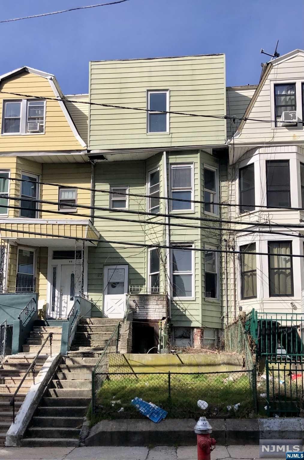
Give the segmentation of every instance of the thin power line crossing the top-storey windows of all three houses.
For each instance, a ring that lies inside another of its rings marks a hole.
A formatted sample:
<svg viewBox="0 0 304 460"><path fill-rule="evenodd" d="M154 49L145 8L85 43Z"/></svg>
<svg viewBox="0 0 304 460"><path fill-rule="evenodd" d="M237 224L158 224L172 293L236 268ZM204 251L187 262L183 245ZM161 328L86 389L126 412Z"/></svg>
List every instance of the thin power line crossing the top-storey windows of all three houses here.
<svg viewBox="0 0 304 460"><path fill-rule="evenodd" d="M63 101L65 103L75 103L75 104L88 104L88 105L98 105L101 107L107 107L112 109L125 109L125 110L139 110L141 112L151 112L149 109L143 109L141 107L129 107L126 105L116 105L116 104L105 104L101 102L92 102L92 101L77 101L74 99L62 99L62 98L50 98L47 96L34 96L33 94L23 94L20 92L9 92L9 91L0 91L3 94L11 94L13 96L19 96L21 98L33 98L33 99L42 99L47 101ZM175 112L172 110L158 110L158 113L163 114L172 114L172 115L184 115L184 116L194 116L200 118L216 118L218 120L239 120L239 121L257 121L262 123L275 123L275 120L258 120L256 118L248 118L248 117L237 117L236 115L201 115L201 114L193 114L191 112ZM294 121L286 121L286 123L294 123ZM304 121L298 121L298 123L304 125Z"/></svg>

